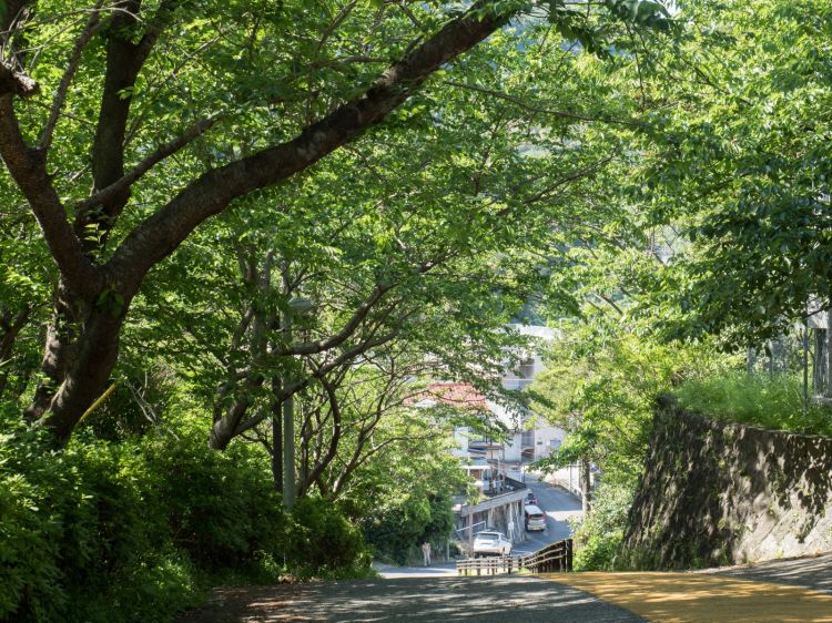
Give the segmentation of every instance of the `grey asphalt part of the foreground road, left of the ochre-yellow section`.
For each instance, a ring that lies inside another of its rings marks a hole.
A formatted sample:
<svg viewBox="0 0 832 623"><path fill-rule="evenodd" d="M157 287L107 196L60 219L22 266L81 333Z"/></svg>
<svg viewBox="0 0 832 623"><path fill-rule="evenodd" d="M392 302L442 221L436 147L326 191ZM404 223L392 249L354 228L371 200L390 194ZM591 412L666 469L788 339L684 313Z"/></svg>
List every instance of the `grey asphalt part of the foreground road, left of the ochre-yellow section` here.
<svg viewBox="0 0 832 623"><path fill-rule="evenodd" d="M407 578L215 591L177 623L495 621L635 623L645 620L579 590L530 575Z"/></svg>

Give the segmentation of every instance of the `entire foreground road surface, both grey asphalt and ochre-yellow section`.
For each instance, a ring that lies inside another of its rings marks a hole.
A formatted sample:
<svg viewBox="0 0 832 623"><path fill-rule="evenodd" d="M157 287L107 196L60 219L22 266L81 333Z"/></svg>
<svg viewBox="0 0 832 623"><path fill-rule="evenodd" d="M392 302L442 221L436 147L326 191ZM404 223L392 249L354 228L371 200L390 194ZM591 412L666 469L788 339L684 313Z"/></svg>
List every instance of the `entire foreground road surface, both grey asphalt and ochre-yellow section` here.
<svg viewBox="0 0 832 623"><path fill-rule="evenodd" d="M403 578L219 589L179 623L832 623L832 553L690 573Z"/></svg>

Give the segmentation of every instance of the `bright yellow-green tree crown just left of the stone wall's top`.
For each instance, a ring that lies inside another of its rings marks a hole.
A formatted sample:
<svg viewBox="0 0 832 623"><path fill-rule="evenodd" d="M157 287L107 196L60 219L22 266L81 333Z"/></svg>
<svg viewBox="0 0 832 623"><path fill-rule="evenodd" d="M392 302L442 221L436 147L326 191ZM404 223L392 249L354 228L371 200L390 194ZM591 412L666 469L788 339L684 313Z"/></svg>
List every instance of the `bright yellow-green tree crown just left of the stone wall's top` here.
<svg viewBox="0 0 832 623"><path fill-rule="evenodd" d="M561 326L547 369L531 386L536 412L567 431L552 466L589 459L606 480L632 486L656 398L716 356L707 345L660 344L599 316Z"/></svg>

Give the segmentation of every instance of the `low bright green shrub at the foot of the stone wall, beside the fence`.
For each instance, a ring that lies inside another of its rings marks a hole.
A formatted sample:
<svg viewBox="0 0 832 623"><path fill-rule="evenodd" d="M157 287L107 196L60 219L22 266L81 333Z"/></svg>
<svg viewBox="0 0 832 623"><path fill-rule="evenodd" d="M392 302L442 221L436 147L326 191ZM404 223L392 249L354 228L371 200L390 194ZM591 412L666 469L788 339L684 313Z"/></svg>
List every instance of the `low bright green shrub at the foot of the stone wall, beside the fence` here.
<svg viewBox="0 0 832 623"><path fill-rule="evenodd" d="M632 504L631 487L602 483L592 500L592 512L575 525L575 570L611 571L627 530Z"/></svg>

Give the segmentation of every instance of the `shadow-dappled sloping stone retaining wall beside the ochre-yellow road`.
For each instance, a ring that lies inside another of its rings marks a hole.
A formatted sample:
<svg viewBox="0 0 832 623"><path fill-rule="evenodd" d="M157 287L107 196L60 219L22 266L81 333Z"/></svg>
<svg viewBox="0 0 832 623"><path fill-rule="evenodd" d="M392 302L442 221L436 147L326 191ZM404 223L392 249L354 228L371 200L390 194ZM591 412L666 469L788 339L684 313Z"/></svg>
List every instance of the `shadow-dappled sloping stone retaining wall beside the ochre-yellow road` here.
<svg viewBox="0 0 832 623"><path fill-rule="evenodd" d="M832 551L832 438L684 412L663 399L623 561L683 569Z"/></svg>

